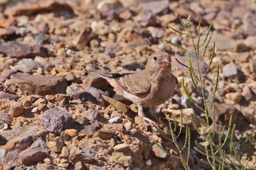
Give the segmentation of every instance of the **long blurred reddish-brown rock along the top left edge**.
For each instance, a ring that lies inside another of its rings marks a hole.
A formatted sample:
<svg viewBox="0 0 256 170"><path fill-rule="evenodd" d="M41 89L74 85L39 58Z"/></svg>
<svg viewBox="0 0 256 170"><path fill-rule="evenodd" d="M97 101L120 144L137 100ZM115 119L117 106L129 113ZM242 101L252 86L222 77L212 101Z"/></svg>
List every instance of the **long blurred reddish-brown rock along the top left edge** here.
<svg viewBox="0 0 256 170"><path fill-rule="evenodd" d="M20 15L36 15L38 13L45 12L67 12L71 15L74 15L72 8L61 1L47 0L47 1L38 1L38 3L20 3L11 8L7 8L4 13L7 15L20 16Z"/></svg>

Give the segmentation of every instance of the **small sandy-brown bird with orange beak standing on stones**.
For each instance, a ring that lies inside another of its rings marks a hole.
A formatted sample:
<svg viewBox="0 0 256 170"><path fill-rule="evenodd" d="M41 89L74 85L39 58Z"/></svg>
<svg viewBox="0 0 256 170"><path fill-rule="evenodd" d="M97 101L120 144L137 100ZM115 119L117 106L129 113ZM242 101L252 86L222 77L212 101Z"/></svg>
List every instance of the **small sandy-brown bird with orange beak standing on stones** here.
<svg viewBox="0 0 256 170"><path fill-rule="evenodd" d="M149 107L151 115L160 124L156 106L173 96L178 83L171 73L172 57L166 52L154 52L148 57L145 69L134 73L99 73L114 88L116 94L124 96L138 106L138 116L148 123L155 122L145 116L143 107Z"/></svg>

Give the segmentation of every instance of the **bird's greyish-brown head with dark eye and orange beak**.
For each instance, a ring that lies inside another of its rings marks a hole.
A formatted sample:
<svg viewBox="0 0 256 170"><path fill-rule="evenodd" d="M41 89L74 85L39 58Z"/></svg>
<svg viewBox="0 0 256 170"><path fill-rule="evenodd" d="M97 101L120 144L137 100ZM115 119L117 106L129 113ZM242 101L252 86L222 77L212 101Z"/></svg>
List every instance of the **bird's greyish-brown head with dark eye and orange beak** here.
<svg viewBox="0 0 256 170"><path fill-rule="evenodd" d="M159 71L170 72L172 70L172 58L166 52L154 52L146 64L146 69L150 72L159 73Z"/></svg>

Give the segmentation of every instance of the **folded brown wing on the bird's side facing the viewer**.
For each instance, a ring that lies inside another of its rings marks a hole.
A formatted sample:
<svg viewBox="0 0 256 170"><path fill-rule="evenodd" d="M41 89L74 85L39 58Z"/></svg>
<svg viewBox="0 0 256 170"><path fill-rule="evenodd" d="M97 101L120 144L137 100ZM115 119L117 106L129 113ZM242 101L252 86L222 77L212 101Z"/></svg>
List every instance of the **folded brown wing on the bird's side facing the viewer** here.
<svg viewBox="0 0 256 170"><path fill-rule="evenodd" d="M116 78L116 82L124 88L124 90L135 95L145 94L150 90L150 81L145 71L125 74L124 76Z"/></svg>

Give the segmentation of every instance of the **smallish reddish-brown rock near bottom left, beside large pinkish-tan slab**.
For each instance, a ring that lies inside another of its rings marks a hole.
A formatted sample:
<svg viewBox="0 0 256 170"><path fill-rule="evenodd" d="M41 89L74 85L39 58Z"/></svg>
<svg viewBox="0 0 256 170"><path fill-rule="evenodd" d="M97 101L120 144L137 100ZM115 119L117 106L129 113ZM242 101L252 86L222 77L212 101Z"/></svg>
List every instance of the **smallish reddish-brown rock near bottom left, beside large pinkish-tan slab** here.
<svg viewBox="0 0 256 170"><path fill-rule="evenodd" d="M47 157L49 157L49 154L39 148L28 148L19 154L20 163L24 165L32 165L37 162L42 162Z"/></svg>

